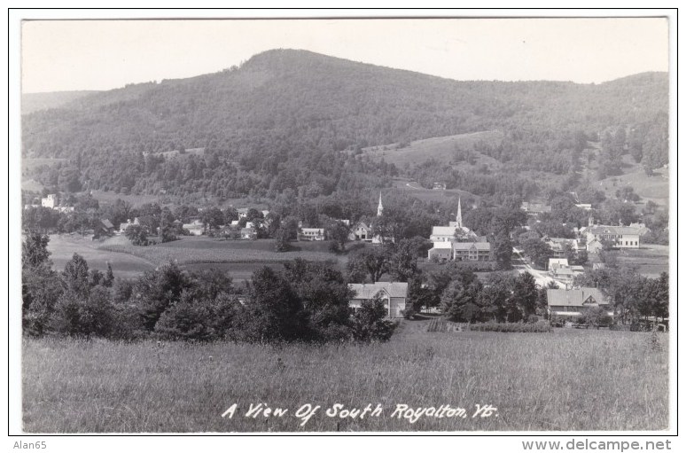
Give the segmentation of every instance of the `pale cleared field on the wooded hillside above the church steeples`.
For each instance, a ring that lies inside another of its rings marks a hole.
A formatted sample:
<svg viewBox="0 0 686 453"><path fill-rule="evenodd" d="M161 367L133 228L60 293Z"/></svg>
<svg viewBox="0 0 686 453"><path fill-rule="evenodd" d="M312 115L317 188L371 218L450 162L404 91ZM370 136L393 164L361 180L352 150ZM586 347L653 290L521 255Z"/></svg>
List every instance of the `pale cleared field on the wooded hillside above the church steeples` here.
<svg viewBox="0 0 686 453"><path fill-rule="evenodd" d="M447 137L432 137L425 140L416 140L405 147L399 148L398 144L387 144L381 146L370 146L362 148L363 155L371 159L381 160L395 164L398 168L403 168L406 164L418 165L426 160L435 159L447 164L453 162L457 150L472 151L473 144L479 141L494 142L503 139L503 134L498 131L472 132L470 134L460 134ZM499 168L501 163L489 156L474 152L475 163L470 166L464 162L464 166L475 167L486 164L490 168ZM461 168L463 163L459 164Z"/></svg>

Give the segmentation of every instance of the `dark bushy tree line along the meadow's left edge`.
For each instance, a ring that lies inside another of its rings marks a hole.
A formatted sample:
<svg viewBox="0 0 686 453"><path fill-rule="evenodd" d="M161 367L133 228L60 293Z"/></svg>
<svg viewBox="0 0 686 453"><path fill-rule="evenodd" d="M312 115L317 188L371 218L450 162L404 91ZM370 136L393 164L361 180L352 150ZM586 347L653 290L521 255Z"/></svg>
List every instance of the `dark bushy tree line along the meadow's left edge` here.
<svg viewBox="0 0 686 453"><path fill-rule="evenodd" d="M347 280L324 263L263 267L243 287L216 269L189 273L175 262L125 280L109 265L105 273L89 269L78 254L52 270L48 242L34 233L22 246L22 326L30 336L325 342L388 340L394 332L378 299L351 314Z"/></svg>

